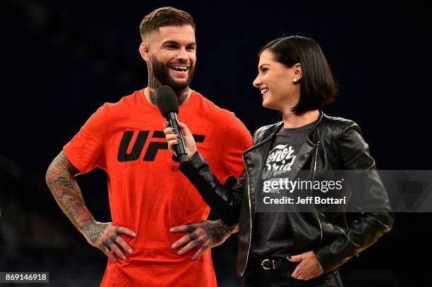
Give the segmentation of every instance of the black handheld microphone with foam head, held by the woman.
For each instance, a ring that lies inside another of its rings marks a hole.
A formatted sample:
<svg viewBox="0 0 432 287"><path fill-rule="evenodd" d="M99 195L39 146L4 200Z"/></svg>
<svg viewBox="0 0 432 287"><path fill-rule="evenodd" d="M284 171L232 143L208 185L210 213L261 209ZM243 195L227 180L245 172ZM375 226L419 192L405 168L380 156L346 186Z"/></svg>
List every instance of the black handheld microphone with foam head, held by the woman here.
<svg viewBox="0 0 432 287"><path fill-rule="evenodd" d="M183 134L181 133L177 120L177 114L179 114L179 100L177 99L176 92L172 90L172 87L163 85L157 89L156 95L156 104L160 113L164 118L167 118L169 126L175 128L180 135L180 143L174 147L177 157L180 159L180 162L186 162L188 161L188 155L186 146L184 145Z"/></svg>

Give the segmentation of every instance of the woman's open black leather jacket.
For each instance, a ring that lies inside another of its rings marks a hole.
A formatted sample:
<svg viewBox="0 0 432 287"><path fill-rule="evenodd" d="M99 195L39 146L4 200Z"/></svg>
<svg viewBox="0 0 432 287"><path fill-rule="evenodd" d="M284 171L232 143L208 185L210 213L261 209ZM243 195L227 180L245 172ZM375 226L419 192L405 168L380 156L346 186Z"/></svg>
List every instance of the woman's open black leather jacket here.
<svg viewBox="0 0 432 287"><path fill-rule="evenodd" d="M195 185L205 202L227 225L239 223L237 274L242 276L251 248L254 221L254 190L260 188L259 178L272 140L283 122L259 128L253 135L253 147L244 154L245 170L231 192L224 190L210 167L198 152L180 170ZM350 214L326 213L311 204L311 212L289 212L294 234L294 254L314 250L325 272L332 271L373 244L390 231L393 214L376 164L359 126L344 118L320 112L316 126L308 134L292 166L293 171L368 170L368 187L361 196L373 202L376 212ZM354 189L353 189L354 191ZM349 218L351 219L351 217Z"/></svg>

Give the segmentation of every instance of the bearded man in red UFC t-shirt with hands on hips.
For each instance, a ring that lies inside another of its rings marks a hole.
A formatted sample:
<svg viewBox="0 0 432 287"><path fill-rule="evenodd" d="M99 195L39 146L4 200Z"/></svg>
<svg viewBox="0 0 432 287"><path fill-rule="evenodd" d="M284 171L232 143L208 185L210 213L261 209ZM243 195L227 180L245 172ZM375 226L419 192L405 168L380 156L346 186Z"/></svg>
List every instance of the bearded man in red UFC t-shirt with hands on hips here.
<svg viewBox="0 0 432 287"><path fill-rule="evenodd" d="M209 249L235 230L205 220L209 207L178 176L164 141L157 88L176 92L179 118L196 131L198 149L222 181L240 176L251 135L234 113L189 88L196 40L188 13L158 8L145 16L140 34L148 87L97 109L49 166L47 184L88 243L109 257L101 286L216 286ZM74 178L95 167L108 174L112 222L95 220ZM173 226L184 232L170 232Z"/></svg>

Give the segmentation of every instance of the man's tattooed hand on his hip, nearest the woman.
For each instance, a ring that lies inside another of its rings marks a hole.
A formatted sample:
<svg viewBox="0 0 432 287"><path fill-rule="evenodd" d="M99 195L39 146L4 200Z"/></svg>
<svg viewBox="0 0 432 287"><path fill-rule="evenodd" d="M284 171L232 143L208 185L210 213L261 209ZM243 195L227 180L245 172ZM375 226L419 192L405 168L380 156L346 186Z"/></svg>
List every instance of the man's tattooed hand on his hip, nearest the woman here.
<svg viewBox="0 0 432 287"><path fill-rule="evenodd" d="M217 245L221 245L224 243L227 238L232 233L236 233L239 231L239 224L236 224L234 226L226 226L222 221L215 220L205 220L202 221L200 224L187 224L187 225L181 225L176 226L173 228L170 228L169 231L171 232L191 232L186 236L183 236L179 240L177 240L171 247L172 249L176 249L181 247L182 245L184 248L181 248L177 252L178 255L184 255L184 253L188 252L192 248L195 248L199 244L202 243L200 248L197 252L191 257L191 259L196 260L198 257L203 255L204 251L208 248L214 248Z"/></svg>

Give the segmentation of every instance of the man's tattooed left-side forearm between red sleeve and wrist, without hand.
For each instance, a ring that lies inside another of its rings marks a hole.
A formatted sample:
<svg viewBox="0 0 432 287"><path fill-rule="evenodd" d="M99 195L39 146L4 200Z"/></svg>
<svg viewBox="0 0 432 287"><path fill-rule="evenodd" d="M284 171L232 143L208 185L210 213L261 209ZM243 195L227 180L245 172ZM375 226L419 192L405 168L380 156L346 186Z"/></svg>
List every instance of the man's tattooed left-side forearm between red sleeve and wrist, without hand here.
<svg viewBox="0 0 432 287"><path fill-rule="evenodd" d="M85 206L78 183L73 178L78 170L66 158L63 152L52 161L47 171L47 185L57 204L78 230L95 221Z"/></svg>

